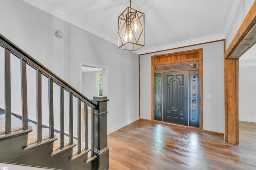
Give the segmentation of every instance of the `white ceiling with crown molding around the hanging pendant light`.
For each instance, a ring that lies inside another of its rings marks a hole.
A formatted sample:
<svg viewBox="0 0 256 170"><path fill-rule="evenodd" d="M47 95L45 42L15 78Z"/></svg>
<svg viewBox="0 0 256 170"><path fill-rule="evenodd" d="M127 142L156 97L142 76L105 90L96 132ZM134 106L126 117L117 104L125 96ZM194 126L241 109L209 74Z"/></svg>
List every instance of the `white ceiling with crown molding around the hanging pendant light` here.
<svg viewBox="0 0 256 170"><path fill-rule="evenodd" d="M117 45L117 18L129 0L24 0ZM240 0L132 0L145 14L142 54L225 39ZM65 35L65 33L64 33Z"/></svg>

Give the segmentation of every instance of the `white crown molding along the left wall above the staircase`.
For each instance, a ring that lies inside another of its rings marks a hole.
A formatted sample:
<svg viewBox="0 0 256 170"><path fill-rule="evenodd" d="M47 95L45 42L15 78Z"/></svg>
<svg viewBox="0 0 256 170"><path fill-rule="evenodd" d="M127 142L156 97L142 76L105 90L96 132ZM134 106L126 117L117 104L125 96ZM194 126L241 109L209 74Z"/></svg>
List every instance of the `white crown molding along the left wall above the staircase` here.
<svg viewBox="0 0 256 170"><path fill-rule="evenodd" d="M44 12L47 12L49 14L52 14L53 16L56 16L57 18L60 18L64 21L67 21L69 23L72 23L73 25L76 25L77 27L80 27L94 35L97 35L98 37L101 37L107 41L110 41L111 43L117 44L117 39L113 35L107 33L103 29L100 29L96 25L93 25L92 23L83 20L79 16L76 16L72 14L71 12L60 8L59 6L56 6L56 4L52 3L50 0L23 0L24 2L43 10Z"/></svg>

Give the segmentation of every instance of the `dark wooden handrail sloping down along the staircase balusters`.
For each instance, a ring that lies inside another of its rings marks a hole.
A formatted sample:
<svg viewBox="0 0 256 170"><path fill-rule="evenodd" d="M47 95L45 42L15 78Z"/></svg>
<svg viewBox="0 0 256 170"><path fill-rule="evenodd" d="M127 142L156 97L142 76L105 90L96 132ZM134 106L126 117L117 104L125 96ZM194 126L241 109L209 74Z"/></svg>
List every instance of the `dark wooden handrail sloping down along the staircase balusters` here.
<svg viewBox="0 0 256 170"><path fill-rule="evenodd" d="M74 87L72 87L70 84L68 84L66 81L62 80L59 76L54 74L51 70L46 68L43 64L39 63L25 53L22 49L17 47L14 43L12 43L10 40L8 40L6 37L4 37L2 34L0 34L0 44L4 45L4 47L8 50L10 50L14 55L20 57L24 61L26 61L27 64L34 67L35 69L42 72L42 74L46 75L47 77L51 78L56 84L59 86L64 87L68 92L71 92L74 96L81 99L82 102L88 104L88 106L94 108L97 110L97 105L94 104L90 99L86 98L82 93L80 93L78 90L76 90Z"/></svg>

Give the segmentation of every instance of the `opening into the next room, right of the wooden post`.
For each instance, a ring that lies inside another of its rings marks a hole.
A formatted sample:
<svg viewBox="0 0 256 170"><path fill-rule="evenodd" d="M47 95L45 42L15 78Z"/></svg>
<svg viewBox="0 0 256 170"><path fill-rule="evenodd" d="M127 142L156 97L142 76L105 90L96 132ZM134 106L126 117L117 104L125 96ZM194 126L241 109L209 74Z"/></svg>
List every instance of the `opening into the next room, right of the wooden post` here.
<svg viewBox="0 0 256 170"><path fill-rule="evenodd" d="M256 45L253 45L239 58L238 79L238 120L239 120L239 145L255 147L256 136L256 106L254 104L256 95ZM246 140L244 140L246 139Z"/></svg>

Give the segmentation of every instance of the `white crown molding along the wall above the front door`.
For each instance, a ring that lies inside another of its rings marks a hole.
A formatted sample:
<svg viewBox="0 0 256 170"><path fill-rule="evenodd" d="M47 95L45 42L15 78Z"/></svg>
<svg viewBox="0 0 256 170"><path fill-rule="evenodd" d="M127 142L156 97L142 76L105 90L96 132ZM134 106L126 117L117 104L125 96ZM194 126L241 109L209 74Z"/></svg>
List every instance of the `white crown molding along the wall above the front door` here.
<svg viewBox="0 0 256 170"><path fill-rule="evenodd" d="M153 53L153 52L157 52L157 51L164 51L164 50L174 49L174 48L179 48L179 47L186 47L186 46L195 45L195 44L202 44L202 43L211 42L211 41L218 41L218 40L224 39L224 38L225 38L225 35L223 35L223 34L215 34L215 35L200 37L200 38L196 38L196 39L190 39L188 41L180 41L178 43L172 43L172 44L162 45L162 46L148 48L148 49L139 49L134 52L138 55L141 55L141 54Z"/></svg>

